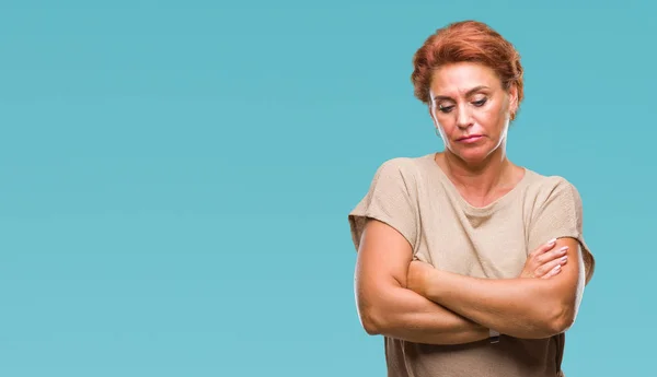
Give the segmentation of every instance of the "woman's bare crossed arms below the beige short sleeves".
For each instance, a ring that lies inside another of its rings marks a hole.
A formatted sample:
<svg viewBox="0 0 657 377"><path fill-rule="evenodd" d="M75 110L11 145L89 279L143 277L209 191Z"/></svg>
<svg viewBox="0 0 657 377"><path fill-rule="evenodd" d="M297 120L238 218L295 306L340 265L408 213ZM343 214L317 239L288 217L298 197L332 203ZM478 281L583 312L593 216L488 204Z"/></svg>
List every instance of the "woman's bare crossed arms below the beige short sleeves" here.
<svg viewBox="0 0 657 377"><path fill-rule="evenodd" d="M355 274L361 323L369 334L427 344L479 341L489 329L523 339L564 332L586 283L578 241L561 238L553 249L564 246L568 263L549 279L477 279L413 261L400 233L369 220Z"/></svg>

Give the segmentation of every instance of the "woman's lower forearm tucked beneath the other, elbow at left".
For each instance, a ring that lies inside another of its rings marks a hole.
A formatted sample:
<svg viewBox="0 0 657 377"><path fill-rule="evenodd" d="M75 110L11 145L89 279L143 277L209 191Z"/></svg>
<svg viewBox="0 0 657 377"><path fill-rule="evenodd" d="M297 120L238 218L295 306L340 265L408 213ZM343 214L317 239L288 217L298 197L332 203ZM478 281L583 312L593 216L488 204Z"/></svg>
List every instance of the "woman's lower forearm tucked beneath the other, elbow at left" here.
<svg viewBox="0 0 657 377"><path fill-rule="evenodd" d="M425 344L462 344L488 338L488 329L417 293L394 287L379 297L364 321L370 334Z"/></svg>

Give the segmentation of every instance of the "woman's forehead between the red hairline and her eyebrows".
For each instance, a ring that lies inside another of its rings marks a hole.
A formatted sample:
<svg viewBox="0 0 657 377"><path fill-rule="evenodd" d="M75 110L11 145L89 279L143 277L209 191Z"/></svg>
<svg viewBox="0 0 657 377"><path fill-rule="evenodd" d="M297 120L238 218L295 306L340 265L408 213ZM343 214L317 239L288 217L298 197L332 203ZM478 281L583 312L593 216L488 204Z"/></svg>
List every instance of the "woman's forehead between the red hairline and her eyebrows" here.
<svg viewBox="0 0 657 377"><path fill-rule="evenodd" d="M488 86L492 90L502 87L495 71L474 62L447 64L434 71L430 92L434 95L465 95L476 86Z"/></svg>

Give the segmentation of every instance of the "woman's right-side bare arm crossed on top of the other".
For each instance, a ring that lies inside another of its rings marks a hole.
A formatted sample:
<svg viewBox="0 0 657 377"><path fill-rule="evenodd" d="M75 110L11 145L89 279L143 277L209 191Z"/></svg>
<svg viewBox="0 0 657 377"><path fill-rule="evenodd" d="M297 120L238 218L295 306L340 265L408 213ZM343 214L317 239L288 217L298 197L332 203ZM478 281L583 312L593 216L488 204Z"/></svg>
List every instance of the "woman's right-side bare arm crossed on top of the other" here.
<svg viewBox="0 0 657 377"><path fill-rule="evenodd" d="M575 320L585 283L579 243L561 238L568 263L551 279L477 279L412 262L412 288L485 327L516 338L548 338Z"/></svg>

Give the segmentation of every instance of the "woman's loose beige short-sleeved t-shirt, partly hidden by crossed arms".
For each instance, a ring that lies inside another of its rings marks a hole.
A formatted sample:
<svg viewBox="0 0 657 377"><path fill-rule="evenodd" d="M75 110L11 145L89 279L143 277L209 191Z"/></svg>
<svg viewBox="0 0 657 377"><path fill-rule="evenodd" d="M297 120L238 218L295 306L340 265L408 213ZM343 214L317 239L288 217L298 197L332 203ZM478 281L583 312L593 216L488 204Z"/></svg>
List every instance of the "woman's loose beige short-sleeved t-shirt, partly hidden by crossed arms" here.
<svg viewBox="0 0 657 377"><path fill-rule="evenodd" d="M349 213L356 249L367 217L396 228L416 259L469 276L517 278L529 252L552 238L581 244L587 275L595 260L581 235L581 201L566 179L525 169L520 182L497 201L469 204L436 164L435 153L384 162L369 191ZM588 281L588 280L587 280ZM523 340L502 335L460 345L384 338L389 377L555 377L565 335Z"/></svg>

